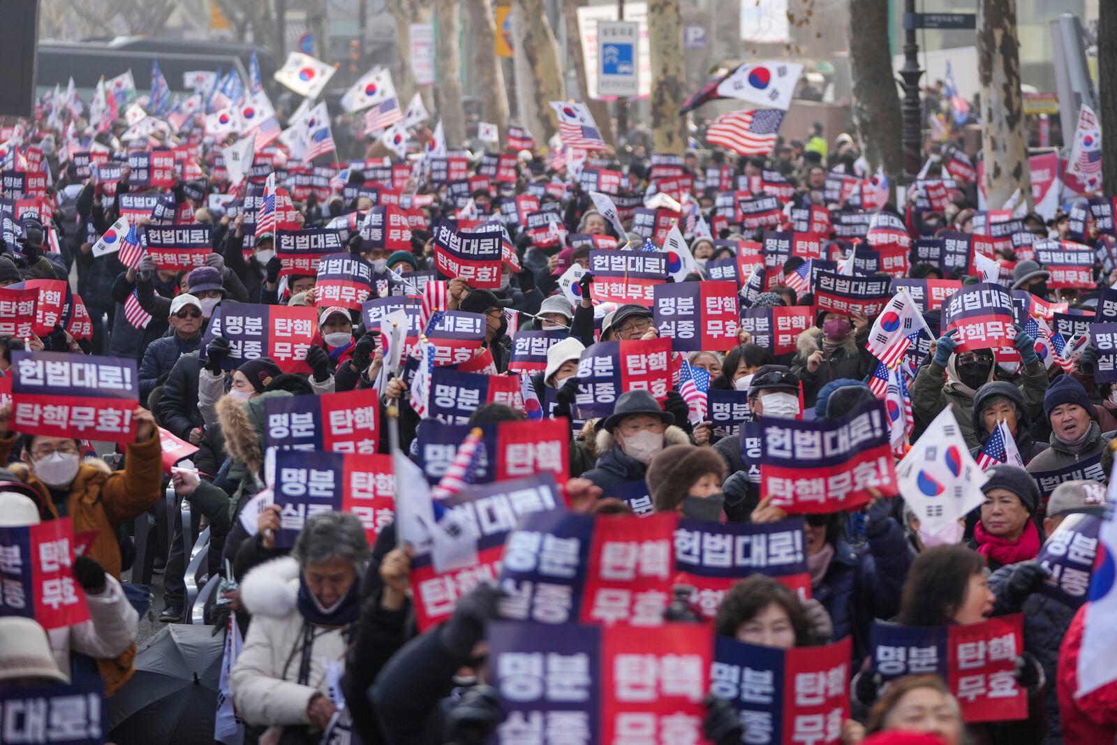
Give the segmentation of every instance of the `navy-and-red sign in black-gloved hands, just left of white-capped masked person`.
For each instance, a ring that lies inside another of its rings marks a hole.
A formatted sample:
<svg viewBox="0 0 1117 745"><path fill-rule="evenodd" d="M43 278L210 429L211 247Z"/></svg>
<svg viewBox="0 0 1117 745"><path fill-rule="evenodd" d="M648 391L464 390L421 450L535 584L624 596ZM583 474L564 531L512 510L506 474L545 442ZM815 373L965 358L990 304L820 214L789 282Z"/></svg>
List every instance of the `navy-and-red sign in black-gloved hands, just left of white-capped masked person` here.
<svg viewBox="0 0 1117 745"><path fill-rule="evenodd" d="M214 336L229 340L223 370L270 357L284 372L311 372L306 352L321 341L315 308L225 300L210 318L202 350Z"/></svg>

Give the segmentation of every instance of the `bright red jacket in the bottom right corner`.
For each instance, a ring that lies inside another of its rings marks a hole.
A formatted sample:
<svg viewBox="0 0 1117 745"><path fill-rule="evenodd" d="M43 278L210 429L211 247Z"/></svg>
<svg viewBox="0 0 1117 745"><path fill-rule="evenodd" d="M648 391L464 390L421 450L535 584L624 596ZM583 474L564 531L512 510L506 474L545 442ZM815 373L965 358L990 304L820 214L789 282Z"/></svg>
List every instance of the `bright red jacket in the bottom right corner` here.
<svg viewBox="0 0 1117 745"><path fill-rule="evenodd" d="M1089 603L1078 609L1059 648L1059 716L1063 742L1075 745L1113 745L1117 737L1117 681L1075 698L1078 690L1078 651L1082 621Z"/></svg>

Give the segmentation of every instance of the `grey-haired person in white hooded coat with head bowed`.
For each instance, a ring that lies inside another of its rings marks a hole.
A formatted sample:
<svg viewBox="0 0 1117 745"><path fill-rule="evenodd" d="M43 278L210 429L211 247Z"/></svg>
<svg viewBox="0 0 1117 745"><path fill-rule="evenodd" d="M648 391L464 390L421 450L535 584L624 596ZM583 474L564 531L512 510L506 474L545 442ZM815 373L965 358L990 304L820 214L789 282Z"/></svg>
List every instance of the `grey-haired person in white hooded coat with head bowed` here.
<svg viewBox="0 0 1117 745"><path fill-rule="evenodd" d="M261 744L278 742L288 727L304 736L321 732L337 710L330 671L344 666L367 558L355 516L319 513L306 520L290 556L261 564L241 583L252 623L230 682L245 722L267 728Z"/></svg>

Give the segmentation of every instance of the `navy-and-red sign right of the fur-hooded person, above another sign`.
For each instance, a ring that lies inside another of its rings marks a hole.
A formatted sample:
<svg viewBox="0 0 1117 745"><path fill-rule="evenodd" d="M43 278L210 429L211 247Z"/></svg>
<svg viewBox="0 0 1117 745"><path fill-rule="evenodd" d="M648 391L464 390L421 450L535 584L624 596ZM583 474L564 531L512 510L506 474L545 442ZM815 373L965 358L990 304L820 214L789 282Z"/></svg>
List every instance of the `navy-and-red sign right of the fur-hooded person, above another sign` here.
<svg viewBox="0 0 1117 745"><path fill-rule="evenodd" d="M373 389L269 399L264 405L264 447L371 455L379 445L379 417Z"/></svg>

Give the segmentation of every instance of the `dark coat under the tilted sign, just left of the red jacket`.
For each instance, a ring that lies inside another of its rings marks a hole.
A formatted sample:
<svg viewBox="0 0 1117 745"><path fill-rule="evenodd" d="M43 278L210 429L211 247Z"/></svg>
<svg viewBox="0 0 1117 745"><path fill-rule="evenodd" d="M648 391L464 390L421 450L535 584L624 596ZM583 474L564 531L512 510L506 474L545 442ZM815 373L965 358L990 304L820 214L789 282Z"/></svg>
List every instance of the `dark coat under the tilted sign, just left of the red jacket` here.
<svg viewBox="0 0 1117 745"><path fill-rule="evenodd" d="M997 608L994 615L1003 613L1024 614L1024 651L1031 652L1043 667L1043 677L1048 681L1043 705L1047 708L1047 738L1050 745L1062 742L1059 722L1059 695L1056 690L1057 668L1059 665L1059 642L1067 634L1070 622L1075 618L1075 609L1059 602L1049 595L1032 593L1022 608L1001 608L1001 598L1009 584L1012 566L1002 566L989 579L989 589L997 596Z"/></svg>

